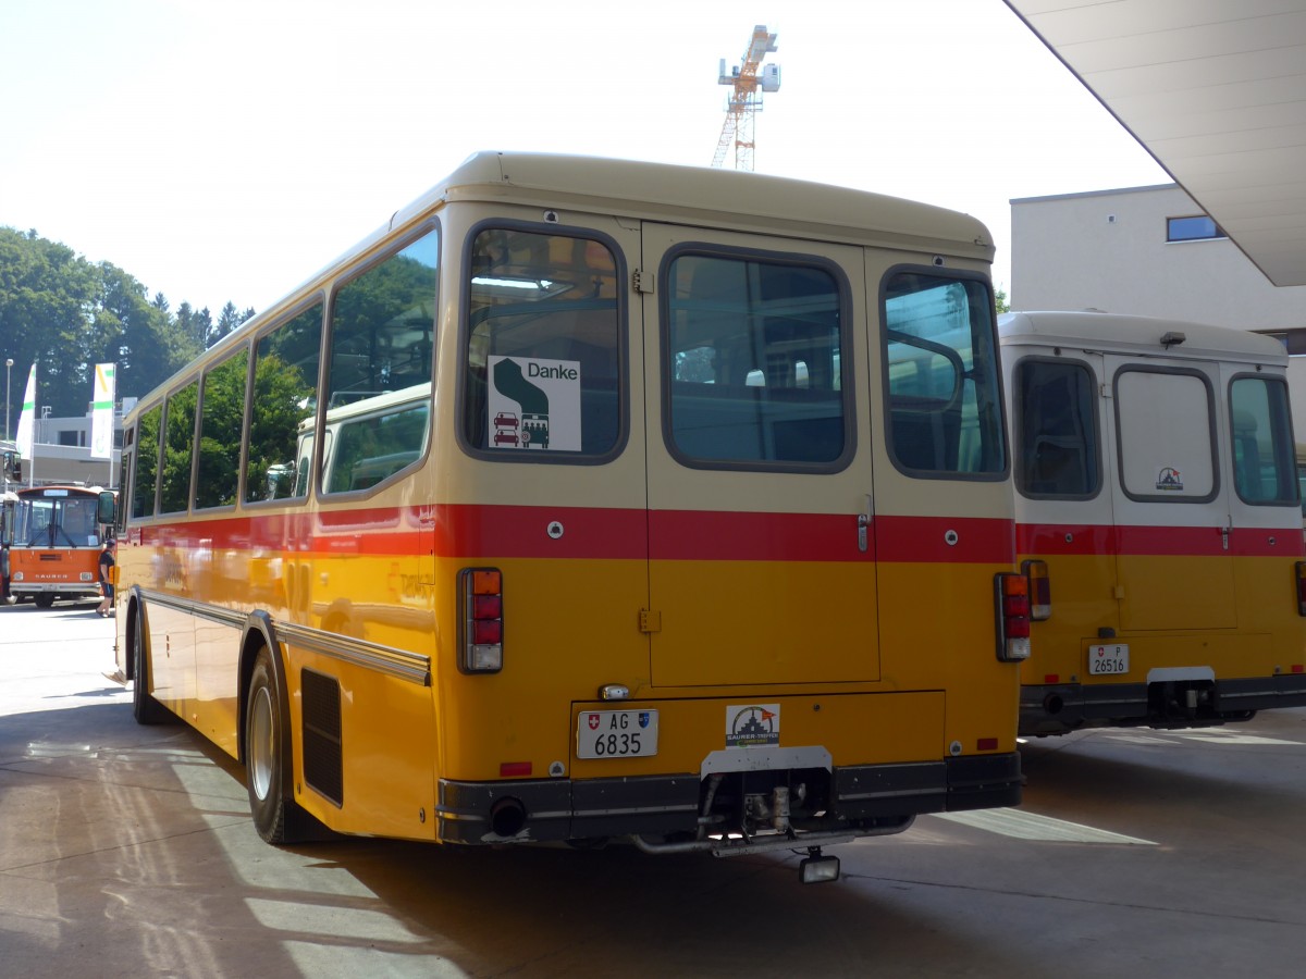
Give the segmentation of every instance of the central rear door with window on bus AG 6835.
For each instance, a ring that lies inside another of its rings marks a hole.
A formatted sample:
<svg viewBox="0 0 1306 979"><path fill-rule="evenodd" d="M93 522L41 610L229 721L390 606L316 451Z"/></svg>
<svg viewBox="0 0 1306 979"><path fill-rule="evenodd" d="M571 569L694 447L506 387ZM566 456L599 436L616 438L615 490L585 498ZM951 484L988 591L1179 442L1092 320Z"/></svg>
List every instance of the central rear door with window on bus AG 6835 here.
<svg viewBox="0 0 1306 979"><path fill-rule="evenodd" d="M653 684L878 680L859 251L645 225L644 261Z"/></svg>

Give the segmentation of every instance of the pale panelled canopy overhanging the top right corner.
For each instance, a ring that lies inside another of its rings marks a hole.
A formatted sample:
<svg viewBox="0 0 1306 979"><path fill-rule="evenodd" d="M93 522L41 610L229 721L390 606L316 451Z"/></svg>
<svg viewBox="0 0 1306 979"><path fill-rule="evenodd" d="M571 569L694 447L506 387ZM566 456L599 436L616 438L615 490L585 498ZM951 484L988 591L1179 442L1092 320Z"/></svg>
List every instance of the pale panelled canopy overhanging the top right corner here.
<svg viewBox="0 0 1306 979"><path fill-rule="evenodd" d="M1004 0L1276 286L1306 285L1306 0Z"/></svg>

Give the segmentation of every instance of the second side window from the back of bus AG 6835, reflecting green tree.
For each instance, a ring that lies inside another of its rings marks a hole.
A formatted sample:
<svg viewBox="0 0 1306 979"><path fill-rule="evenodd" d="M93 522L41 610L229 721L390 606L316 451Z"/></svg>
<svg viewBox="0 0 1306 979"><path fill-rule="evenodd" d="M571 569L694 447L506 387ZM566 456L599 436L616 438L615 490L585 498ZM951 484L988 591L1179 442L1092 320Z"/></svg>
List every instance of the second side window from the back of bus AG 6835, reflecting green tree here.
<svg viewBox="0 0 1306 979"><path fill-rule="evenodd" d="M283 499L293 488L300 489L293 470L300 428L306 422L311 426L317 412L321 324L323 304L315 303L259 339L249 399L246 503Z"/></svg>

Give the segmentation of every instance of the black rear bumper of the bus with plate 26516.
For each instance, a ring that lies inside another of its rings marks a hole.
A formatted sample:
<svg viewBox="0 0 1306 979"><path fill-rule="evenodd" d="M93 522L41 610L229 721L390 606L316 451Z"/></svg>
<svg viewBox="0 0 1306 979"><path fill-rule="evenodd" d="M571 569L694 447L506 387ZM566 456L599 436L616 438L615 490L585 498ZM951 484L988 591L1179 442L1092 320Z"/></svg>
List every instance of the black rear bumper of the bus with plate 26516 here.
<svg viewBox="0 0 1306 979"><path fill-rule="evenodd" d="M1158 710L1147 683L1053 684L1020 688L1020 734L1066 734L1077 727L1196 727L1243 719L1272 707L1306 706L1306 674L1215 680L1209 702L1191 717Z"/></svg>

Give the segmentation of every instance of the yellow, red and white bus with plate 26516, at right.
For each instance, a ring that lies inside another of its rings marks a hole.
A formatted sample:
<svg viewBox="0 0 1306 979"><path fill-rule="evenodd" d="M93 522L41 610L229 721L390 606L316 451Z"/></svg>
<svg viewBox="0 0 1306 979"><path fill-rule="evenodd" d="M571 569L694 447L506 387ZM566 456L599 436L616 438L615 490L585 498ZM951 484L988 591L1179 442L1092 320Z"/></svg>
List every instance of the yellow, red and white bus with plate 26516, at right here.
<svg viewBox="0 0 1306 979"><path fill-rule="evenodd" d="M999 332L1034 620L1021 734L1306 705L1282 346L1097 312Z"/></svg>

